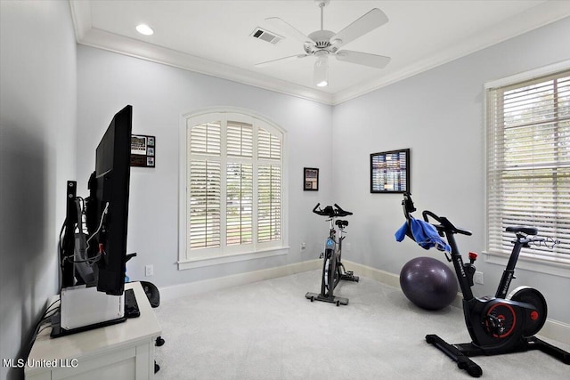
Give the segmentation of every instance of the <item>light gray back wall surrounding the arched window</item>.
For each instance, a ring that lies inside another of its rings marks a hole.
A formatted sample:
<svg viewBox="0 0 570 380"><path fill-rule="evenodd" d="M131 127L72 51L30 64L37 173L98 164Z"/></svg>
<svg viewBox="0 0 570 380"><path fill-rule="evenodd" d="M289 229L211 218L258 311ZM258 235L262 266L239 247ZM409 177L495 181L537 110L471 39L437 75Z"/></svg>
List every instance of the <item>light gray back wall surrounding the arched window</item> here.
<svg viewBox="0 0 570 380"><path fill-rule="evenodd" d="M133 105L133 133L157 138L156 168L131 171L127 249L138 254L127 263L131 279L165 287L318 258L327 227L311 209L332 201L330 106L85 46L77 49L77 89L79 191L86 192L94 170L96 144L126 104ZM181 119L216 106L249 109L286 131L291 249L288 255L178 271ZM304 166L321 169L318 192L303 191ZM301 242L306 243L303 253ZM145 264L154 265L153 277L144 277Z"/></svg>

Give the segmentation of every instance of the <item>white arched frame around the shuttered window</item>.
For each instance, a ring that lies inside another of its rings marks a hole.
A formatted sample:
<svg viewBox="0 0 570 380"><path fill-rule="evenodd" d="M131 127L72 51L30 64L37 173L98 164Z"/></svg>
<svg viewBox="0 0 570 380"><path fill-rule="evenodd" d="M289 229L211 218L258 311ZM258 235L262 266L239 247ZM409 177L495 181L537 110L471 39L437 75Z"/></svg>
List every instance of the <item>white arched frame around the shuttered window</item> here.
<svg viewBox="0 0 570 380"><path fill-rule="evenodd" d="M216 114L223 114L228 116L231 114L237 114L240 116L240 121L250 120L251 123L255 120L260 120L267 125L270 125L275 130L282 133L282 147L281 150L281 188L282 198L281 198L281 217L282 217L282 227L281 227L281 246L272 247L272 243L262 243L261 248L257 248L255 252L232 252L232 249L228 249L224 255L216 254L208 255L208 249L204 249L202 255L188 258L186 256L186 214L187 214L187 199L186 199L186 183L188 179L188 166L187 166L187 122L192 119L194 124L208 123L216 117ZM179 175L178 175L178 270L183 271L187 269L194 269L200 267L206 267L211 265L219 265L224 263L236 263L247 260L255 260L265 257L273 257L278 255L289 254L289 214L286 212L289 204L288 188L287 183L289 183L289 169L287 163L287 133L276 123L269 120L267 117L257 114L255 111L250 109L240 109L235 107L212 107L205 109L198 109L194 112L189 112L183 114L180 117L180 127L179 127ZM263 245L265 244L265 247Z"/></svg>

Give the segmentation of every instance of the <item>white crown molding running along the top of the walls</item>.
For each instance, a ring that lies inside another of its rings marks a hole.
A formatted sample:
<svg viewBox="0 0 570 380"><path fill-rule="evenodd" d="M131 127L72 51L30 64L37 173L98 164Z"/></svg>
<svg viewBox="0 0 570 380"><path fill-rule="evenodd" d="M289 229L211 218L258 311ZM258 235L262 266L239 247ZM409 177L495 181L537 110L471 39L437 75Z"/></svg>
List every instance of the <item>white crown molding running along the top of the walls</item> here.
<svg viewBox="0 0 570 380"><path fill-rule="evenodd" d="M265 90L284 93L310 101L318 101L328 105L337 105L365 93L371 93L379 88L415 76L428 69L436 68L449 61L457 60L493 44L499 44L509 38L519 36L535 28L540 28L551 22L570 16L570 2L547 1L510 17L508 20L503 21L500 26L490 28L484 33L477 33L476 35L470 36L460 43L448 47L443 52L417 61L391 74L379 77L376 80L354 85L338 93L325 93L310 87L267 77L247 69L235 68L223 63L208 61L188 53L178 52L156 44L149 44L134 38L118 36L98 28L93 28L90 2L70 0L69 4L78 44L85 44L110 52L121 53L147 61L154 61L245 85L253 85Z"/></svg>

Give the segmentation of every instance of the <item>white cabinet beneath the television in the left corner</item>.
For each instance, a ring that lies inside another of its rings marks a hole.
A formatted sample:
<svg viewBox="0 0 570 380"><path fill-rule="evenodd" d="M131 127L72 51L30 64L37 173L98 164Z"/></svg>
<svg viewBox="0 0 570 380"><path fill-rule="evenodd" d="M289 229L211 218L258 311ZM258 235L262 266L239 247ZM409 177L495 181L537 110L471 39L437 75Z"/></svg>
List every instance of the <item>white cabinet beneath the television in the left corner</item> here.
<svg viewBox="0 0 570 380"><path fill-rule="evenodd" d="M141 316L70 336L50 337L46 328L36 338L26 361L28 380L151 379L159 321L139 282L132 288Z"/></svg>

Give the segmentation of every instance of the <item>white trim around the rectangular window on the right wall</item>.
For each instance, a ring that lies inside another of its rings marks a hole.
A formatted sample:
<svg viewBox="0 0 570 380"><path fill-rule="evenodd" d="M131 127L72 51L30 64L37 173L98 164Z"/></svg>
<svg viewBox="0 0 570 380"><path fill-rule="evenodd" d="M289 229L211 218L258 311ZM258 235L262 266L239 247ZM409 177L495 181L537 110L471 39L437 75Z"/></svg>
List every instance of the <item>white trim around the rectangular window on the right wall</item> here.
<svg viewBox="0 0 570 380"><path fill-rule="evenodd" d="M505 85L514 85L517 84L519 82L524 82L527 80L532 80L533 78L536 77L544 77L544 76L548 76L551 74L555 74L558 71L563 71L566 69L570 68L570 60L566 60L566 61L559 61L556 63L553 63L549 66L545 66L542 68L538 68L538 69L533 69L530 71L525 71L523 73L518 73L509 77L503 77L500 79L496 79L493 81L489 81L485 83L485 101L484 101L484 141L487 141L487 99L486 99L486 94L487 94L487 90L491 89L491 88L495 88L495 87L502 87ZM486 170L487 170L487 144L485 142L484 144L485 146L485 154L484 154L484 158L485 158L485 199L487 198L487 175L486 175ZM486 200L485 200L485 231L488 229L488 214L487 214L487 207L486 207ZM485 247L489 247L489 241L488 241L488 234L485 232ZM509 261L509 255L505 255L505 254L499 254L499 253L494 253L494 252L483 252L484 256L485 256L485 263L492 263L492 264L497 264L497 265L501 265L501 266L505 266L507 265L508 261ZM564 277L567 279L570 279L570 265L565 265L565 264L561 264L561 263L556 263L556 264L550 264L547 263L543 260L536 260L533 259L532 257L527 257L527 256L519 256L518 258L518 262L517 262L517 269L522 269L525 271L535 271L535 272L540 272L540 273L546 273L546 274L550 274L550 275L554 275L554 276L560 276L560 277Z"/></svg>

